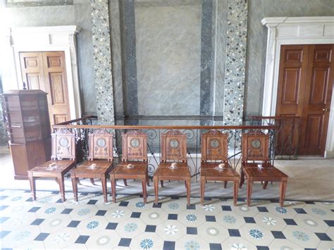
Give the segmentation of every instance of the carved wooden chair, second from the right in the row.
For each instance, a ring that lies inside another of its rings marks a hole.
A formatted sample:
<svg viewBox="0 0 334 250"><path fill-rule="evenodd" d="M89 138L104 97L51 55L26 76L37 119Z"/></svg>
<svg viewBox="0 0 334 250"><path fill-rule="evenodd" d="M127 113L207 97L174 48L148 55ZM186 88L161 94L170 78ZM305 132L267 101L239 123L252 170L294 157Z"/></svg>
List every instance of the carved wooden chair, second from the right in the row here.
<svg viewBox="0 0 334 250"><path fill-rule="evenodd" d="M233 203L237 206L239 175L228 163L228 134L210 130L202 135L201 163L201 204L204 201L204 189L207 180L233 181Z"/></svg>

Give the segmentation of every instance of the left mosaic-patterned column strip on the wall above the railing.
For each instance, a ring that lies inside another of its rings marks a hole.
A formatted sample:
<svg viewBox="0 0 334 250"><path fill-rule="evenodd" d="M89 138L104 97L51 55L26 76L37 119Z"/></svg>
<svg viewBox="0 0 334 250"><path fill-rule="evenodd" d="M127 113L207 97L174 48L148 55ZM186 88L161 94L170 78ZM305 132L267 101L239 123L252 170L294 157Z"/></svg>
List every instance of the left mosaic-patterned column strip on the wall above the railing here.
<svg viewBox="0 0 334 250"><path fill-rule="evenodd" d="M91 0L91 5L97 116L100 125L115 125L108 0Z"/></svg>

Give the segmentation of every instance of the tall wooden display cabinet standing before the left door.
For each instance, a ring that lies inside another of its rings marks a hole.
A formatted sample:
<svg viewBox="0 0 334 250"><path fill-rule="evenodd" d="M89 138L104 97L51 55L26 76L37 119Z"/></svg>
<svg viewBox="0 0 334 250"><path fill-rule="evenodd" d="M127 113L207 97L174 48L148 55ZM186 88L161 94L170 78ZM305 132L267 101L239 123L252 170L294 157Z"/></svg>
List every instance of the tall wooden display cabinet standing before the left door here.
<svg viewBox="0 0 334 250"><path fill-rule="evenodd" d="M27 170L51 158L47 93L42 90L10 90L3 96L14 178L26 180Z"/></svg>

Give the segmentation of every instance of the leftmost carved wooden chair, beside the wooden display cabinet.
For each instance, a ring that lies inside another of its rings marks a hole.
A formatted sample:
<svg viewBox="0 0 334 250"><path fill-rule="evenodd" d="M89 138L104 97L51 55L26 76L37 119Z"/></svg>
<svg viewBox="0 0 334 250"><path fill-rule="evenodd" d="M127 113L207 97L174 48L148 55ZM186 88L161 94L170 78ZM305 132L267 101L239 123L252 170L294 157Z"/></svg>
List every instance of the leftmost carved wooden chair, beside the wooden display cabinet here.
<svg viewBox="0 0 334 250"><path fill-rule="evenodd" d="M27 170L32 199L36 200L36 178L51 177L56 178L61 191L61 199L65 201L64 175L76 164L75 134L70 130L57 130L51 135L51 151L51 161Z"/></svg>

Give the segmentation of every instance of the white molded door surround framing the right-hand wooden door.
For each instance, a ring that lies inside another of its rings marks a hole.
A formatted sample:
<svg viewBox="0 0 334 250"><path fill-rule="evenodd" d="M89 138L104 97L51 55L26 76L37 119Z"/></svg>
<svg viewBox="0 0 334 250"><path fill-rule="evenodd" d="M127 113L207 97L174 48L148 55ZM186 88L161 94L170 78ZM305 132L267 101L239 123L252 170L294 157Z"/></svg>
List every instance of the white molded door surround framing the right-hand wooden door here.
<svg viewBox="0 0 334 250"><path fill-rule="evenodd" d="M334 44L334 16L263 18L268 27L264 102L262 115L276 115L280 46L285 44ZM334 151L334 92L330 104L330 118L325 155Z"/></svg>

